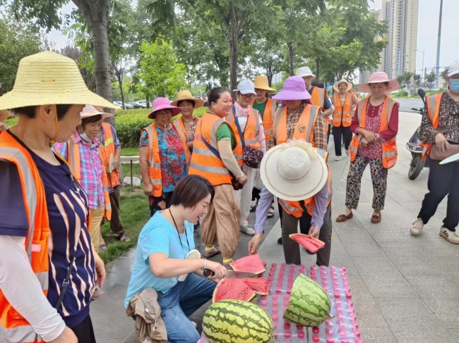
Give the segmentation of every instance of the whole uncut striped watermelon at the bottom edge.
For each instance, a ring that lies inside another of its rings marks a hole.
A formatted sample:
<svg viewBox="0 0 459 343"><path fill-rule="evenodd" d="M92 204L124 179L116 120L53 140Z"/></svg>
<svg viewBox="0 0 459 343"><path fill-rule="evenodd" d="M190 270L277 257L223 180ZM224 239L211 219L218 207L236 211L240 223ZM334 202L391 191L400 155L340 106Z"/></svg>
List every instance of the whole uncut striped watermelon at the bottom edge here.
<svg viewBox="0 0 459 343"><path fill-rule="evenodd" d="M268 313L255 304L222 300L204 313L203 331L210 343L272 343L274 326Z"/></svg>

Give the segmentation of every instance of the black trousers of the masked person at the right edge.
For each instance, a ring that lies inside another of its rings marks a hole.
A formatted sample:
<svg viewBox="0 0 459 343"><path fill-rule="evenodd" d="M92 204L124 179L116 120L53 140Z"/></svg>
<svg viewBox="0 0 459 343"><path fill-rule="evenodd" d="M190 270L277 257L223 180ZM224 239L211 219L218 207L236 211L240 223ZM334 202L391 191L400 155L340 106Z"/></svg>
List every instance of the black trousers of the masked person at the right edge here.
<svg viewBox="0 0 459 343"><path fill-rule="evenodd" d="M459 223L459 163L439 164L440 161L430 161L429 180L427 188L429 193L424 196L422 208L417 218L427 224L434 216L436 208L448 195L446 218L443 219L444 227L455 231Z"/></svg>

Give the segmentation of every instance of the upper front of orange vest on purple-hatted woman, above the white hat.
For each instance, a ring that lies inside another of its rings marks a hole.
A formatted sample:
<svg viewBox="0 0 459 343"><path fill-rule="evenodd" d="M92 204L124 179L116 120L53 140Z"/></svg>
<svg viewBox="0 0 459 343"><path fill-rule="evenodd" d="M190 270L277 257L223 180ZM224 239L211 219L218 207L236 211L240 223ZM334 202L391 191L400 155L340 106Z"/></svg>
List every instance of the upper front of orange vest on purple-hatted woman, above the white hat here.
<svg viewBox="0 0 459 343"><path fill-rule="evenodd" d="M293 132L294 139L304 139L314 146L314 125L320 108L306 105ZM287 107L280 107L274 115L273 135L277 144L287 142Z"/></svg>

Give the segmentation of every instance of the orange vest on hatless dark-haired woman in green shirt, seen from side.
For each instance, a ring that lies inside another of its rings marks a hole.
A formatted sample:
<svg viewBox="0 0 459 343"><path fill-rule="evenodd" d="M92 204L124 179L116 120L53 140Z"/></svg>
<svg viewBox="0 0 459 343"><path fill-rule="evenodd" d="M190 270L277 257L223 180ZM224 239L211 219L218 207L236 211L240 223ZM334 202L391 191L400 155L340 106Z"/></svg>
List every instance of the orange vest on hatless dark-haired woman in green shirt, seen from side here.
<svg viewBox="0 0 459 343"><path fill-rule="evenodd" d="M215 156L203 141L205 139L205 142L212 146L215 151L218 151L217 130L223 123L227 123L225 118L220 118L208 112L201 118L194 134L193 155L191 156L188 170L189 174L205 177L213 186L231 185L232 179L222 159ZM243 151L241 140L239 135L232 129L232 126L228 125L228 127L236 141L236 146L233 149L234 157L239 166L242 167Z"/></svg>

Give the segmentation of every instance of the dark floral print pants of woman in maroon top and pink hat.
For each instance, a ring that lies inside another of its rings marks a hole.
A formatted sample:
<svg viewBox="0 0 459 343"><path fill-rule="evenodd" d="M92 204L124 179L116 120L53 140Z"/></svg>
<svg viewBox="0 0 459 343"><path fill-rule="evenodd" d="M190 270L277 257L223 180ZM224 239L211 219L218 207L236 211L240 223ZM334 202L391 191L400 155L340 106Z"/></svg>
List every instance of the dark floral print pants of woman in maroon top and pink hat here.
<svg viewBox="0 0 459 343"><path fill-rule="evenodd" d="M387 169L383 167L382 158L366 158L360 155L351 162L347 174L346 206L357 208L360 197L360 184L367 164L370 164L371 182L373 183L373 208L384 209L387 189Z"/></svg>

